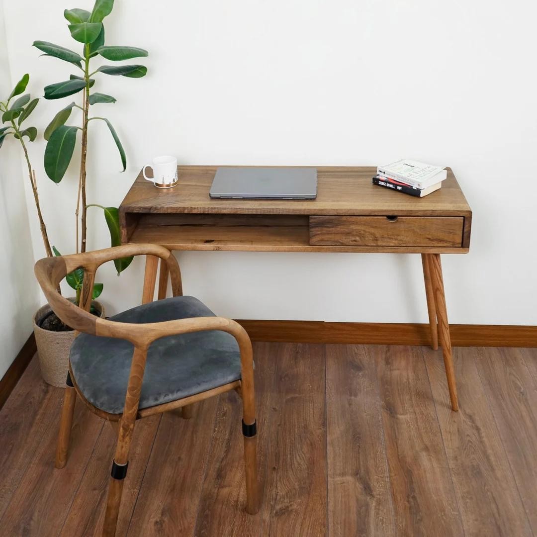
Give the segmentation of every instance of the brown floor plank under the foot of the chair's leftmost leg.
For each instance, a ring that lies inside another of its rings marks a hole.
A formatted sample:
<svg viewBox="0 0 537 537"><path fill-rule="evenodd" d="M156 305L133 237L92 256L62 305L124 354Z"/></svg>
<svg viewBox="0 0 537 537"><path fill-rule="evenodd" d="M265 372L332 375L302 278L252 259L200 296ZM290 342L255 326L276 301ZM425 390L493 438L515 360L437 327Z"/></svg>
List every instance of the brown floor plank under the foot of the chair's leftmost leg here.
<svg viewBox="0 0 537 537"><path fill-rule="evenodd" d="M0 519L4 535L47 535L52 528L56 528L52 534L60 531L103 428L103 420L89 412L78 400L67 466L54 468L63 389L55 388L54 391L56 408L47 417L48 427L42 433L30 466ZM36 483L39 483L39 487Z"/></svg>

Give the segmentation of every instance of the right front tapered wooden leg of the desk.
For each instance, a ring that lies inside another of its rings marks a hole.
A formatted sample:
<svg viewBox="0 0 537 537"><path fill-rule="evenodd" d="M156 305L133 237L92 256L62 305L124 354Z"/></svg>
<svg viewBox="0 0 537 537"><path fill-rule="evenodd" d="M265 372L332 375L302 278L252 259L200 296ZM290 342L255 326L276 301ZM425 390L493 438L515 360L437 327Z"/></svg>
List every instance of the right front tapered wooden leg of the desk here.
<svg viewBox="0 0 537 537"><path fill-rule="evenodd" d="M449 388L449 398L451 408L459 410L457 399L457 387L455 384L455 369L453 367L453 357L451 350L451 337L449 336L449 324L447 322L446 296L444 294L444 279L442 278L442 265L439 253L426 253L429 269L432 277L434 303L440 329L440 341L442 344L442 354L444 355L444 366L446 368L447 386Z"/></svg>

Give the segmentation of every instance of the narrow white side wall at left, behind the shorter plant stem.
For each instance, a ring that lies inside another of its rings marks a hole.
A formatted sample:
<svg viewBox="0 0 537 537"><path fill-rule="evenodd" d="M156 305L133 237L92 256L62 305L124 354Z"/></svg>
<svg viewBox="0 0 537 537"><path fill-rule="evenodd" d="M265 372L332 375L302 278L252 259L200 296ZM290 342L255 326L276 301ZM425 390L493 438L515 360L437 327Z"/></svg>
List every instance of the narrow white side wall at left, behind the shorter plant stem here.
<svg viewBox="0 0 537 537"><path fill-rule="evenodd" d="M12 88L0 0L0 99ZM24 74L24 72L22 73ZM38 308L33 252L20 163L20 143L12 136L0 149L0 379L32 333Z"/></svg>

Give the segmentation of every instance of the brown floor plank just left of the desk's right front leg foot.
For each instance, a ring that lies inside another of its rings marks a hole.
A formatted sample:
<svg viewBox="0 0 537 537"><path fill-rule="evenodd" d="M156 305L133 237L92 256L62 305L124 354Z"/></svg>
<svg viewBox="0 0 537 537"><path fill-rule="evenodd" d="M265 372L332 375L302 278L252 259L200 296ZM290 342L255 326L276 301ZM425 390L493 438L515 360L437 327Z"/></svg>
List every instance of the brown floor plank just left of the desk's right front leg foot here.
<svg viewBox="0 0 537 537"><path fill-rule="evenodd" d="M398 534L463 535L420 347L371 347Z"/></svg>

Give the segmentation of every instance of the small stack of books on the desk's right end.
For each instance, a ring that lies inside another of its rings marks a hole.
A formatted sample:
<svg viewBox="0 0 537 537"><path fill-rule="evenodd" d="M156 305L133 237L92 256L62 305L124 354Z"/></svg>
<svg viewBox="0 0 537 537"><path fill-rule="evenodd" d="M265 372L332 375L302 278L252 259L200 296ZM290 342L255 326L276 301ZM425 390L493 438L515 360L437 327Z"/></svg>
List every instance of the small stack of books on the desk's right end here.
<svg viewBox="0 0 537 537"><path fill-rule="evenodd" d="M377 175L373 177L374 185L418 198L438 190L447 177L447 171L440 166L404 159L379 166L376 173Z"/></svg>

